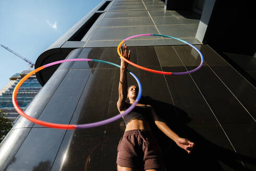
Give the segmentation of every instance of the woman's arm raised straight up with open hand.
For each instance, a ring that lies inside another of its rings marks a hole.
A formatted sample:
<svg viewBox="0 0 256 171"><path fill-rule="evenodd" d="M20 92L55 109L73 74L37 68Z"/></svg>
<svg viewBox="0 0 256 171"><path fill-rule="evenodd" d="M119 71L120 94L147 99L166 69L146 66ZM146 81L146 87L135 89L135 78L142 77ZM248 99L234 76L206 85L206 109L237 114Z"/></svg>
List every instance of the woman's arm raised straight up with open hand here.
<svg viewBox="0 0 256 171"><path fill-rule="evenodd" d="M123 55L125 58L129 59L131 51L127 54L127 46L124 44L124 48L122 49L120 47L121 55ZM119 112L122 112L125 110L125 104L126 104L126 97L127 97L127 65L128 63L125 62L124 59L121 58L121 64L120 64L120 80L119 80L119 86L118 86L118 101L117 101L117 108Z"/></svg>

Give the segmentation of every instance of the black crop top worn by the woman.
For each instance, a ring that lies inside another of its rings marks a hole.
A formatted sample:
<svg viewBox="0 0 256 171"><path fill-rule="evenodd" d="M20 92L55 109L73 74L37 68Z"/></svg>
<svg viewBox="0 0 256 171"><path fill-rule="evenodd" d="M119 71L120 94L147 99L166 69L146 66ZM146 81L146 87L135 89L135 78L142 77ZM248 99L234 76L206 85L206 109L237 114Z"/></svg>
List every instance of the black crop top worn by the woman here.
<svg viewBox="0 0 256 171"><path fill-rule="evenodd" d="M132 118L138 118L149 121L149 116L150 111L148 109L148 106L135 106L135 108L133 108L131 112L126 114L123 119L125 121L125 125L127 125Z"/></svg>

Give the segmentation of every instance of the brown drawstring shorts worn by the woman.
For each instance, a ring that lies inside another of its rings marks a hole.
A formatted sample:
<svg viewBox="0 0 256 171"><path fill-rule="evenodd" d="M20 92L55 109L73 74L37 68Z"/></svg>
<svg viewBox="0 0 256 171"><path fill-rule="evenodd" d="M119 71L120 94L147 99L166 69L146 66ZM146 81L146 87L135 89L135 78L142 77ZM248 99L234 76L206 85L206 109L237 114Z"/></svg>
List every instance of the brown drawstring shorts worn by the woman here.
<svg viewBox="0 0 256 171"><path fill-rule="evenodd" d="M151 131L125 131L117 146L116 163L121 167L137 169L163 168L161 149Z"/></svg>

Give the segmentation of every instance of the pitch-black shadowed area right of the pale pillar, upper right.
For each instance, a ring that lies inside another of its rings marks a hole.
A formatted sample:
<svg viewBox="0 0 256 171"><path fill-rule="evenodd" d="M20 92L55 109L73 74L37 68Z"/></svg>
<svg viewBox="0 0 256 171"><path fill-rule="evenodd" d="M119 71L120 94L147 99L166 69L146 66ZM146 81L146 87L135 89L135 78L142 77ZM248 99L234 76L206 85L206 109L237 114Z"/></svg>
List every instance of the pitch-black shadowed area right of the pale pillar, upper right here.
<svg viewBox="0 0 256 171"><path fill-rule="evenodd" d="M253 1L216 1L203 43L256 87L254 21Z"/></svg>

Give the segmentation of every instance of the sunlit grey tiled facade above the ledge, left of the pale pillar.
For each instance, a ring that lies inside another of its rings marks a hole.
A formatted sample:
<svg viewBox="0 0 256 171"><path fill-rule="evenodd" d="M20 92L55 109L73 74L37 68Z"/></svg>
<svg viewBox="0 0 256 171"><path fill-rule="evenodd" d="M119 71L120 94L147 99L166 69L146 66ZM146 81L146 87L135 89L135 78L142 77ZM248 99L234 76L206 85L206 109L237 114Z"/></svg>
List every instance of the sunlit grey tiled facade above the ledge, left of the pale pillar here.
<svg viewBox="0 0 256 171"><path fill-rule="evenodd" d="M195 38L200 18L200 15L192 11L164 10L164 2L160 0L114 1L99 25L95 26L94 32L88 33L90 38L88 36L84 47L116 47L129 36L145 33L172 35L189 43L201 44ZM165 41L156 36L144 36L129 40L127 44L152 46L182 43L172 39Z"/></svg>

